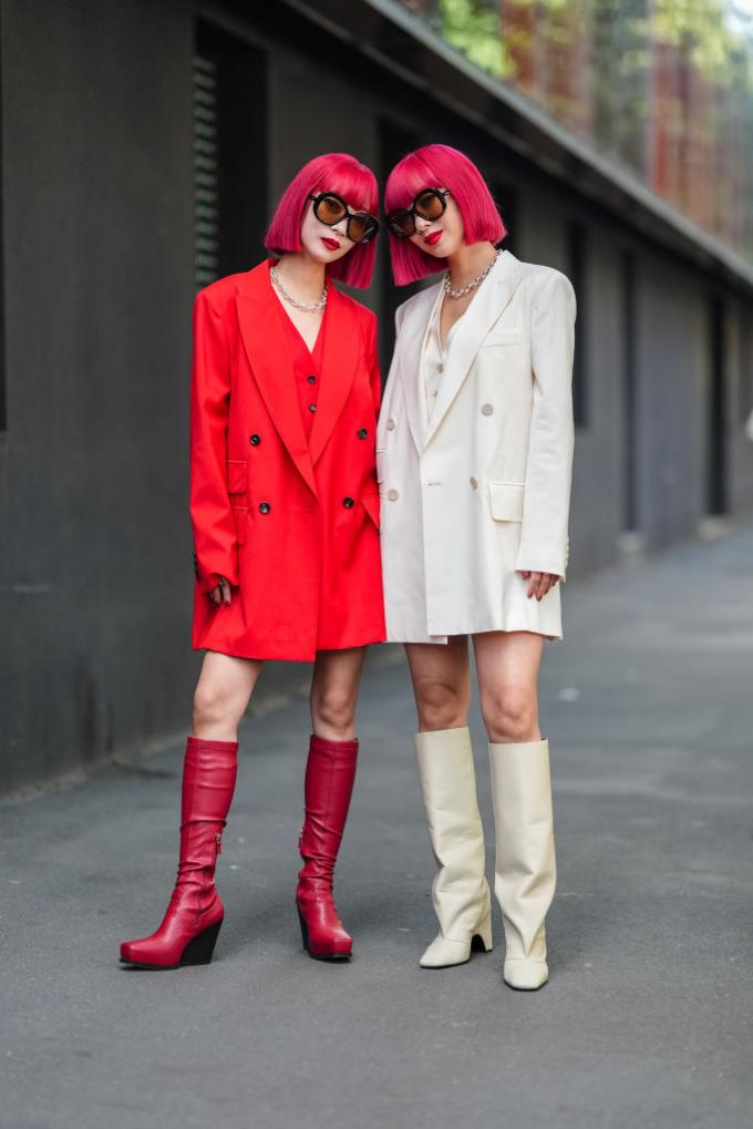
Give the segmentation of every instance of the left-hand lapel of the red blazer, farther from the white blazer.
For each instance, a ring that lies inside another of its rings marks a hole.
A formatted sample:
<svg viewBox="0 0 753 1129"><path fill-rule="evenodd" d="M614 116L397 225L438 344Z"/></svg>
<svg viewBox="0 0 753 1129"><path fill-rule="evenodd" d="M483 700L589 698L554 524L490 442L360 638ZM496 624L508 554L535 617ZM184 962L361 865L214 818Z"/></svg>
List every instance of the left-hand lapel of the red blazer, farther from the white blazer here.
<svg viewBox="0 0 753 1129"><path fill-rule="evenodd" d="M261 263L249 271L236 304L248 364L266 409L298 471L316 493L314 465L300 418L290 352L282 336L282 326L275 332L280 309L269 280L269 263Z"/></svg>

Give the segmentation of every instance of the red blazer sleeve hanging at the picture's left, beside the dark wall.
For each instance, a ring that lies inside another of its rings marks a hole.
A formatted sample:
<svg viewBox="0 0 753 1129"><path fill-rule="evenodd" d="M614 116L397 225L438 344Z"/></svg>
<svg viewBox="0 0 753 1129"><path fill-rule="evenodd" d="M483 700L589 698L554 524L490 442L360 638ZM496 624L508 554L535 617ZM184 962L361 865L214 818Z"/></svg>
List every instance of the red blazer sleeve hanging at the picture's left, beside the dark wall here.
<svg viewBox="0 0 753 1129"><path fill-rule="evenodd" d="M235 523L227 492L230 356L222 318L205 290L193 307L191 524L196 575L205 592L224 576L238 583Z"/></svg>

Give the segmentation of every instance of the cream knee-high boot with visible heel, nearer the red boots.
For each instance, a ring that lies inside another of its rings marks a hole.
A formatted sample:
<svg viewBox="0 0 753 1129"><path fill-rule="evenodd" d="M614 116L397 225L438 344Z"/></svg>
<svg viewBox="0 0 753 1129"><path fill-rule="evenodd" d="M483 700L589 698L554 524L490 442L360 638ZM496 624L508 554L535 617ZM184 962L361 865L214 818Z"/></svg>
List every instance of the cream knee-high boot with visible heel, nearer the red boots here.
<svg viewBox="0 0 753 1129"><path fill-rule="evenodd" d="M415 753L429 840L437 860L431 898L439 934L420 964L464 964L474 938L491 949L491 894L467 728L417 733Z"/></svg>

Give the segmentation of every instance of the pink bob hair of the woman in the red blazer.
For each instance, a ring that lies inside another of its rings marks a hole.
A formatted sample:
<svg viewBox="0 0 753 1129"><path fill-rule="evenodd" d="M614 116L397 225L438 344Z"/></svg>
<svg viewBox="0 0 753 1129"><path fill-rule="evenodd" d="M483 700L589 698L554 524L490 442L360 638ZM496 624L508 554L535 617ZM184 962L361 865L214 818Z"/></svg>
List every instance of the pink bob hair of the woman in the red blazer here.
<svg viewBox="0 0 753 1129"><path fill-rule="evenodd" d="M336 192L351 211L378 215L379 190L371 169L347 152L326 152L304 165L282 193L264 237L268 251L273 255L300 251L300 225L310 204L308 198L319 192ZM374 271L374 239L357 243L327 266L327 275L349 286L367 287Z"/></svg>

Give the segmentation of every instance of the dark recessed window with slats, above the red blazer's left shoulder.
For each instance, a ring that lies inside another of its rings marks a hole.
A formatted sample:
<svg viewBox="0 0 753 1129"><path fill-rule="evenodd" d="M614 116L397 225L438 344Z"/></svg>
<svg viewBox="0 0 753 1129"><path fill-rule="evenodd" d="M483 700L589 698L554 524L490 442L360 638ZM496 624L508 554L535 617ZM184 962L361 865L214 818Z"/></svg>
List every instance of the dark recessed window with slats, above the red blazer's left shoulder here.
<svg viewBox="0 0 753 1129"><path fill-rule="evenodd" d="M268 221L266 58L196 24L193 59L196 289L248 270Z"/></svg>

